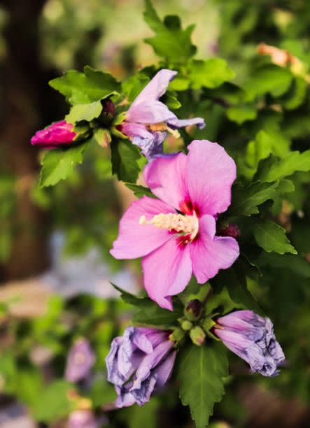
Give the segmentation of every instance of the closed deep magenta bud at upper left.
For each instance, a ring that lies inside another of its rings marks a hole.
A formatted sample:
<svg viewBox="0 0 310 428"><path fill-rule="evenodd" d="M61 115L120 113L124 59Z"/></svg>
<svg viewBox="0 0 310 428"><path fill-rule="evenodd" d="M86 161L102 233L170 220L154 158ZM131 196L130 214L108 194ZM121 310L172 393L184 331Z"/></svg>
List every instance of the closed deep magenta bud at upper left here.
<svg viewBox="0 0 310 428"><path fill-rule="evenodd" d="M77 134L73 131L73 124L60 120L41 131L37 131L31 138L32 145L43 148L57 148L59 145L70 145Z"/></svg>

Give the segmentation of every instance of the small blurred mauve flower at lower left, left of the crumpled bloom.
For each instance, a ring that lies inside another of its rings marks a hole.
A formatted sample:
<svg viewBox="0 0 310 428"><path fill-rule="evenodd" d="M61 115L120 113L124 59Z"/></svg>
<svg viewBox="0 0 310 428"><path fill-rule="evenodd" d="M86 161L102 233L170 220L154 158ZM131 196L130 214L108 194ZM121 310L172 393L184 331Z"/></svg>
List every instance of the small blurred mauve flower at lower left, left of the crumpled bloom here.
<svg viewBox="0 0 310 428"><path fill-rule="evenodd" d="M95 356L90 348L90 343L85 339L79 339L69 351L66 360L65 378L69 382L78 382L86 378L94 365Z"/></svg>

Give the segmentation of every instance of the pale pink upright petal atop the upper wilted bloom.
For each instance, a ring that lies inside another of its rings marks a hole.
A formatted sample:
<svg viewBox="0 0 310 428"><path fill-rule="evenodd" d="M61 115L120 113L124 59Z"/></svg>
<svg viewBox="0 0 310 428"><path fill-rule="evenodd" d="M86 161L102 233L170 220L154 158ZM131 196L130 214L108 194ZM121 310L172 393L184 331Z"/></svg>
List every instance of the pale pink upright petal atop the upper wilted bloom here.
<svg viewBox="0 0 310 428"><path fill-rule="evenodd" d="M143 101L155 101L160 99L166 92L170 80L174 79L177 71L162 69L155 74L150 83L140 92L138 97L132 103L132 106L140 104ZM129 108L130 110L130 108Z"/></svg>

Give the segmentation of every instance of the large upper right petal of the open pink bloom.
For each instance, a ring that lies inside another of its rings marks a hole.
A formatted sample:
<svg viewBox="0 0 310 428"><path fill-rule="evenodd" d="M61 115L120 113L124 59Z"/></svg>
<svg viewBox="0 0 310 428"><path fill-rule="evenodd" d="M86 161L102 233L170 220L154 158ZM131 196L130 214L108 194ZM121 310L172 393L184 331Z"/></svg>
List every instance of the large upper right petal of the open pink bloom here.
<svg viewBox="0 0 310 428"><path fill-rule="evenodd" d="M223 213L230 206L236 164L223 147L207 140L188 146L188 191L202 214Z"/></svg>

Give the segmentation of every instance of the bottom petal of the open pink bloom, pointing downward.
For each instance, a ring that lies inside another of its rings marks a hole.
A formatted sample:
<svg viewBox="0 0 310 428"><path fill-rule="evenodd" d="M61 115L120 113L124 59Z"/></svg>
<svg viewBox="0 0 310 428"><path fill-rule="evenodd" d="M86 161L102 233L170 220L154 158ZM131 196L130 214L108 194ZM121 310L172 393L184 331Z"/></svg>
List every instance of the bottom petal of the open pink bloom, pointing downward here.
<svg viewBox="0 0 310 428"><path fill-rule="evenodd" d="M190 245L180 245L176 237L142 260L144 287L150 299L172 311L171 296L181 293L192 276Z"/></svg>

